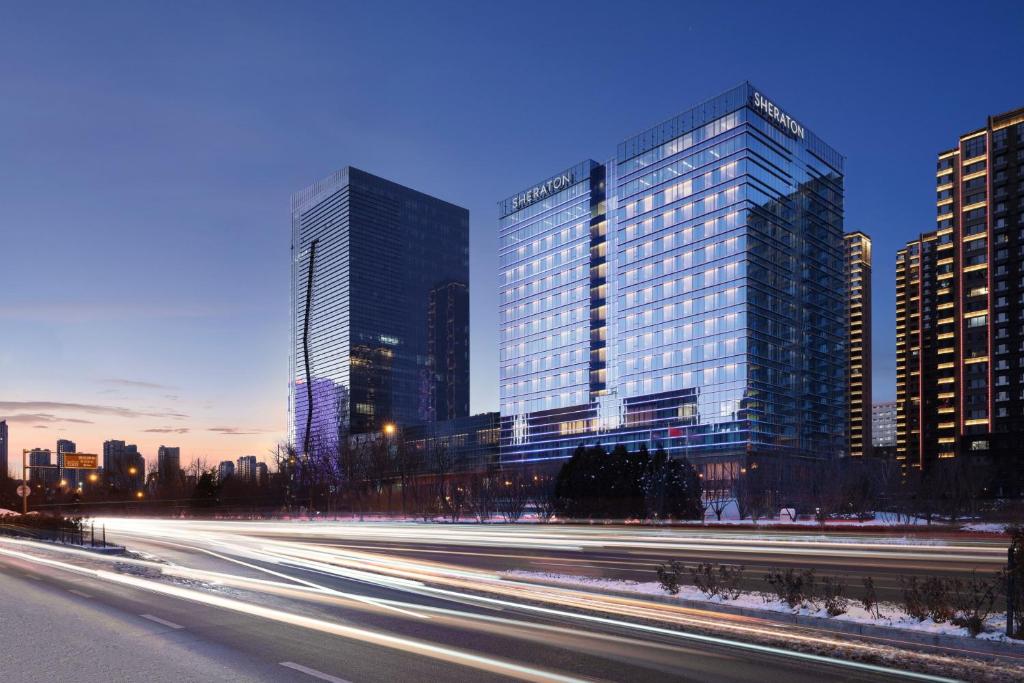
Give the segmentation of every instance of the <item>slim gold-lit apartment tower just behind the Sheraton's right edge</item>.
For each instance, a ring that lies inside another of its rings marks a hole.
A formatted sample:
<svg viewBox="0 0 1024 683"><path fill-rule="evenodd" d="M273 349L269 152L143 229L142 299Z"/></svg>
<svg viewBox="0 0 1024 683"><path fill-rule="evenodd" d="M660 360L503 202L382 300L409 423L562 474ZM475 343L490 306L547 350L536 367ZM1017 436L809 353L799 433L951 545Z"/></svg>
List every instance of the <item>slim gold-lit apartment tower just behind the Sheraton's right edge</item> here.
<svg viewBox="0 0 1024 683"><path fill-rule="evenodd" d="M849 362L847 423L849 455L871 455L871 239L847 232L846 293Z"/></svg>

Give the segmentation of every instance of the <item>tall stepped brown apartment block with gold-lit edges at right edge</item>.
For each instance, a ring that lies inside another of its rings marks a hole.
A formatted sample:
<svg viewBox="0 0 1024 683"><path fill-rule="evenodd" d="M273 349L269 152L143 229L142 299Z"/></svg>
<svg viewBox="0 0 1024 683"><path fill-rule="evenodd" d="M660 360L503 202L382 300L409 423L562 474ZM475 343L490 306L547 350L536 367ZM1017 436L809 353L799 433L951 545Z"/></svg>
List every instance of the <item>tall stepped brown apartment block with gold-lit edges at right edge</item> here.
<svg viewBox="0 0 1024 683"><path fill-rule="evenodd" d="M936 229L896 257L897 458L980 456L1019 487L1024 109L961 135L935 175Z"/></svg>

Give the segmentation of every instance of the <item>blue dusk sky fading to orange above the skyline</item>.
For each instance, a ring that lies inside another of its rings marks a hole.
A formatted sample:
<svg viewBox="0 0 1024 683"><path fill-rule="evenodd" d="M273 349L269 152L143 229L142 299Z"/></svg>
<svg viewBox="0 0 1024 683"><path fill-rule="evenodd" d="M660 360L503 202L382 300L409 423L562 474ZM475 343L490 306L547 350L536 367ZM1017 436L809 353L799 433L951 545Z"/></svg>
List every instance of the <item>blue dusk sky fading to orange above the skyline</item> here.
<svg viewBox="0 0 1024 683"><path fill-rule="evenodd" d="M1024 106L1020 2L0 2L0 419L24 447L265 457L289 199L353 165L470 210L471 409L498 409L500 199L751 80L847 157L896 250L936 155Z"/></svg>

